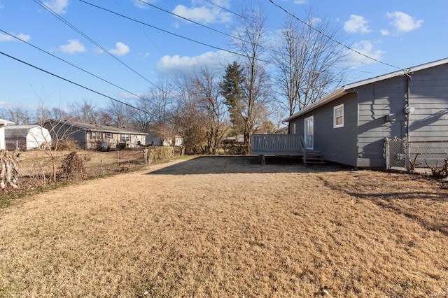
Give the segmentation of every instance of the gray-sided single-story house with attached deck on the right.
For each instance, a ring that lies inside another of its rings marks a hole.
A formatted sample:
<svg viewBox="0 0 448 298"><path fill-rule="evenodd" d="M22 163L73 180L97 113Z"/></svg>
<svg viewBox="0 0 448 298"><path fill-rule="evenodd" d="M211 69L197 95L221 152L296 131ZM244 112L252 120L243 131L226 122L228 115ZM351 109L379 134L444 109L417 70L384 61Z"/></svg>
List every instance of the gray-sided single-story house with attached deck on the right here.
<svg viewBox="0 0 448 298"><path fill-rule="evenodd" d="M448 58L345 85L283 121L325 160L383 167L386 137L448 141Z"/></svg>

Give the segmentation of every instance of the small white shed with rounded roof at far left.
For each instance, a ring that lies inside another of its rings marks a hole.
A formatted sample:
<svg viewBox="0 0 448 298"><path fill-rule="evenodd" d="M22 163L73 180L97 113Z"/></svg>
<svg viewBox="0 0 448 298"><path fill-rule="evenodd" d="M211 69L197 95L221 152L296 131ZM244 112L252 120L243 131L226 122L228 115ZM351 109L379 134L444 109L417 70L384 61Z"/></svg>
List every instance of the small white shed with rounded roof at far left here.
<svg viewBox="0 0 448 298"><path fill-rule="evenodd" d="M51 146L48 129L38 125L8 125L5 127L7 150L31 150Z"/></svg>

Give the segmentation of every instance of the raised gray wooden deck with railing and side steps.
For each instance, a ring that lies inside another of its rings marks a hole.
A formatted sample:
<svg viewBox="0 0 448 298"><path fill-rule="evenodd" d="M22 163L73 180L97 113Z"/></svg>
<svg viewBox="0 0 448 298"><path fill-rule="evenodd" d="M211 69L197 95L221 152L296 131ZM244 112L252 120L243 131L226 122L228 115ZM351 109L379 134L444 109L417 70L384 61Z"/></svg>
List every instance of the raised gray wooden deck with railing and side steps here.
<svg viewBox="0 0 448 298"><path fill-rule="evenodd" d="M265 155L301 156L305 164L323 163L321 152L305 148L300 134L253 134L251 138L252 154L260 155L262 163Z"/></svg>

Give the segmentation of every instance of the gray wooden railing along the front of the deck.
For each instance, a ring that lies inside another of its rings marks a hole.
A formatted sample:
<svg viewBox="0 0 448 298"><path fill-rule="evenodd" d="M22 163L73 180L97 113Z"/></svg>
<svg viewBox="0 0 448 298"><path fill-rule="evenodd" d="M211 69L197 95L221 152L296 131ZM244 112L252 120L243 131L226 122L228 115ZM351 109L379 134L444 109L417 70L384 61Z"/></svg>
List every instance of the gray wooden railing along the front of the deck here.
<svg viewBox="0 0 448 298"><path fill-rule="evenodd" d="M253 134L252 154L302 155L300 134Z"/></svg>

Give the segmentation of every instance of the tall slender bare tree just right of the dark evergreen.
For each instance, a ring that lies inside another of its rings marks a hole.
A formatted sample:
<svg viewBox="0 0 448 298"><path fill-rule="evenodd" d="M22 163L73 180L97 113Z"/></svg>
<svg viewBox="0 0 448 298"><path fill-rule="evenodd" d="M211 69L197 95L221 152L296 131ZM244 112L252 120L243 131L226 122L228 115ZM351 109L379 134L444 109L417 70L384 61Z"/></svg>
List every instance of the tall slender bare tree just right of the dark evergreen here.
<svg viewBox="0 0 448 298"><path fill-rule="evenodd" d="M235 48L244 55L241 65L244 69L244 147L251 150L251 134L255 122L260 118L260 112L266 111L269 97L269 76L265 71L267 66L265 50L267 45L266 16L260 6L249 6L241 15L239 27L234 39Z"/></svg>

